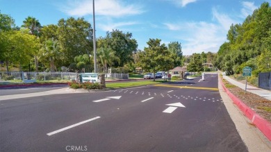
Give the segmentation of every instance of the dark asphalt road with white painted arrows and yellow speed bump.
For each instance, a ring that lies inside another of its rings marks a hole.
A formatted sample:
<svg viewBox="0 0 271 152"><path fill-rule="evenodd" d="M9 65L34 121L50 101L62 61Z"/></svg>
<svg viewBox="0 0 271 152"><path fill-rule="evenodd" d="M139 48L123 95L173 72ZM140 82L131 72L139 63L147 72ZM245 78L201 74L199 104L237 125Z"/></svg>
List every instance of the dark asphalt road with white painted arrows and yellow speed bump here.
<svg viewBox="0 0 271 152"><path fill-rule="evenodd" d="M247 151L217 75L199 79L0 101L0 151Z"/></svg>

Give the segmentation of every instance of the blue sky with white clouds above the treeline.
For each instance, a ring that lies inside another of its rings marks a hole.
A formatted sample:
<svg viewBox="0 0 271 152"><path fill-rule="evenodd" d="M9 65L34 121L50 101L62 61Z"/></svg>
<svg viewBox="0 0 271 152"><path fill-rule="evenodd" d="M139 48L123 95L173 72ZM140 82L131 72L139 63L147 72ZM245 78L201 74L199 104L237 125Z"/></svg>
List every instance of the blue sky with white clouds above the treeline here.
<svg viewBox="0 0 271 152"><path fill-rule="evenodd" d="M96 37L119 29L130 32L138 49L149 38L163 43L181 42L183 55L217 52L227 41L231 24L243 23L247 15L271 0L95 0ZM84 17L92 24L92 0L0 0L0 10L21 26L28 16L42 26L59 19Z"/></svg>

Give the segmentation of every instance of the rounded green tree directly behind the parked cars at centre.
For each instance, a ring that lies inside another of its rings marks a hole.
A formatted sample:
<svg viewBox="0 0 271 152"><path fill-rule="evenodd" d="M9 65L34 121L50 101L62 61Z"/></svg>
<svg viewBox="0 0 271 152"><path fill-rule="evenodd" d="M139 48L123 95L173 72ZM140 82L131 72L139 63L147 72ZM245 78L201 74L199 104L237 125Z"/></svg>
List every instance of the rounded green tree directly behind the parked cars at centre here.
<svg viewBox="0 0 271 152"><path fill-rule="evenodd" d="M170 51L165 47L165 44L161 44L161 40L149 39L147 44L149 47L145 47L140 56L142 69L156 73L156 71L168 71L174 67L174 60L170 58Z"/></svg>

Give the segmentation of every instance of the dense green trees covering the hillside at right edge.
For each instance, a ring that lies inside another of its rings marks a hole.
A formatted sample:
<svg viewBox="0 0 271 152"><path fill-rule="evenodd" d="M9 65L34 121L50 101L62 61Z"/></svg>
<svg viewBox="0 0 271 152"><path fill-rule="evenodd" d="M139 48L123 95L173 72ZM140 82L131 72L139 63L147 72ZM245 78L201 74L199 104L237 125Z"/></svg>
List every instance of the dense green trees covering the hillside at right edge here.
<svg viewBox="0 0 271 152"><path fill-rule="evenodd" d="M271 7L265 2L247 16L243 24L232 24L217 52L215 66L228 75L242 74L243 67L252 67L250 81L260 72L271 71Z"/></svg>

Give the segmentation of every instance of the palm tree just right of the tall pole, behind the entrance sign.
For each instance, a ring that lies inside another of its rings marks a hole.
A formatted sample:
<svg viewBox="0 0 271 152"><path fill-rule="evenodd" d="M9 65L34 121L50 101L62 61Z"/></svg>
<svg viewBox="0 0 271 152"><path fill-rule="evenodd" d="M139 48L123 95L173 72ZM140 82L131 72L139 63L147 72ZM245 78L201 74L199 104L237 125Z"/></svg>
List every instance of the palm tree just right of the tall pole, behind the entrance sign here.
<svg viewBox="0 0 271 152"><path fill-rule="evenodd" d="M104 66L104 73L107 73L107 65L112 67L113 61L120 63L120 58L115 56L115 52L110 47L100 47L97 49L97 56L99 57L101 64Z"/></svg>

